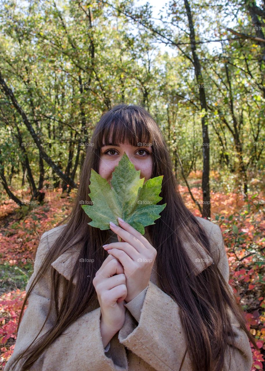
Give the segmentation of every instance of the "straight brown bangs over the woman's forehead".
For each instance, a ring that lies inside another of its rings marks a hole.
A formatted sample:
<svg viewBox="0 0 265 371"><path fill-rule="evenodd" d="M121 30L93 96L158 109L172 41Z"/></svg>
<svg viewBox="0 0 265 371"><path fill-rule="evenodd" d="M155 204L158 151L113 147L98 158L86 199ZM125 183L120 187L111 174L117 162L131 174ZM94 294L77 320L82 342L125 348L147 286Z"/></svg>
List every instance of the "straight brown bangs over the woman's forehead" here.
<svg viewBox="0 0 265 371"><path fill-rule="evenodd" d="M101 121L96 138L98 148L126 142L133 147L142 146L143 143L152 145L152 130L148 116L142 117L140 112L128 108L112 112L111 115L107 113L106 116Z"/></svg>

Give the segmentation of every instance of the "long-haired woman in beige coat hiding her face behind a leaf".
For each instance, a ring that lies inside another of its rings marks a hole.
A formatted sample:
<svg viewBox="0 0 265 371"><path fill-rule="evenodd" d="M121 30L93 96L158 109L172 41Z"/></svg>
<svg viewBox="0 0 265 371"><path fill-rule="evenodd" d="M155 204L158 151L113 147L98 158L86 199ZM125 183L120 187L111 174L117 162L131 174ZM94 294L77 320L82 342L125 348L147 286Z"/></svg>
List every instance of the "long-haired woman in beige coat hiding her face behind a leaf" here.
<svg viewBox="0 0 265 371"><path fill-rule="evenodd" d="M124 152L145 181L164 175L167 206L143 236L122 220L89 226L81 208L91 168L110 182ZM249 340L258 348L228 279L222 232L184 205L156 122L117 105L95 127L71 214L42 235L5 370L249 371Z"/></svg>

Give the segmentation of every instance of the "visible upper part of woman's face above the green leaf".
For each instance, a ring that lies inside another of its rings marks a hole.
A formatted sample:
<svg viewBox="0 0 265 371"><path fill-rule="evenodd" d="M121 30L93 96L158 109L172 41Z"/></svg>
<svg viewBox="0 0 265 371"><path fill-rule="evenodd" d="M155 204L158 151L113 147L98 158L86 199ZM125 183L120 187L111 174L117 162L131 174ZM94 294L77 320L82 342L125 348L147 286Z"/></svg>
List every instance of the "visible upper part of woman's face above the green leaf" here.
<svg viewBox="0 0 265 371"><path fill-rule="evenodd" d="M105 144L105 143L103 143ZM104 145L101 147L99 159L99 175L105 178L110 184L112 172L118 165L124 152L129 160L134 164L135 170L141 170L140 178L145 181L151 178L152 174L152 148L151 147L133 147L127 143L118 143L119 145Z"/></svg>

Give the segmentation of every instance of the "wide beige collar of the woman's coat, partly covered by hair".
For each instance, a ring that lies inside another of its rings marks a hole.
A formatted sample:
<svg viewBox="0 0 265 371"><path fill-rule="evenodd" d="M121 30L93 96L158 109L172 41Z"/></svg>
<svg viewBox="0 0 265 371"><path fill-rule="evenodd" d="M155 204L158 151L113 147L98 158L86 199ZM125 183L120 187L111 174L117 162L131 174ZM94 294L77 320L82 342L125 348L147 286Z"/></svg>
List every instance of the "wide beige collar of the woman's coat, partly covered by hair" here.
<svg viewBox="0 0 265 371"><path fill-rule="evenodd" d="M117 242L117 235L109 230L109 237L111 242ZM148 233L144 234L144 237L150 242L150 237ZM198 275L204 269L209 267L213 263L212 257L208 253L205 252L203 247L196 242L193 236L188 233L187 235L182 236L183 246L186 249L186 252L194 264L194 273ZM73 264L75 263L76 259L79 256L79 252L81 250L81 244L76 244L73 247L70 247L68 251L62 253L56 260L54 260L51 265L55 268L63 277L66 279L70 279L71 272L73 269ZM156 265L154 264L153 270L151 273L150 280L157 284L157 277L156 277ZM73 278L73 284L76 285L77 277Z"/></svg>

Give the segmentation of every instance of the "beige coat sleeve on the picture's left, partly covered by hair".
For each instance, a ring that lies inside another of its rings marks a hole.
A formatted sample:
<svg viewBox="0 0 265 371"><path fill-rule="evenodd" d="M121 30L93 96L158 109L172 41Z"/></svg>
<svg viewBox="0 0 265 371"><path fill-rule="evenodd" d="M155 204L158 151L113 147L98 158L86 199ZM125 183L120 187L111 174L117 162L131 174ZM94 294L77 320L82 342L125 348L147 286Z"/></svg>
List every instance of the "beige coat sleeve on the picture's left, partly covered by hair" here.
<svg viewBox="0 0 265 371"><path fill-rule="evenodd" d="M48 252L47 233L45 232L40 239L34 271L27 283L26 292L41 264L41 258ZM29 295L28 305L20 322L14 352L7 361L5 371L21 369L25 358L20 359L15 366L14 362L38 334L48 313L49 302L50 275L47 273L43 275ZM100 307L80 316L46 348L29 371L127 371L127 355L124 345L118 340L118 333L111 339L109 351L104 352L100 316ZM55 320L56 314L53 309L38 338L52 328Z"/></svg>

